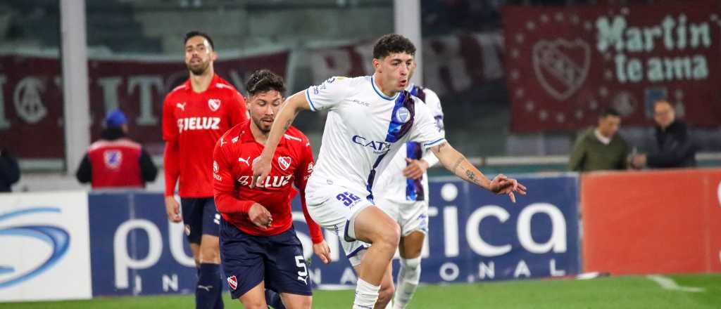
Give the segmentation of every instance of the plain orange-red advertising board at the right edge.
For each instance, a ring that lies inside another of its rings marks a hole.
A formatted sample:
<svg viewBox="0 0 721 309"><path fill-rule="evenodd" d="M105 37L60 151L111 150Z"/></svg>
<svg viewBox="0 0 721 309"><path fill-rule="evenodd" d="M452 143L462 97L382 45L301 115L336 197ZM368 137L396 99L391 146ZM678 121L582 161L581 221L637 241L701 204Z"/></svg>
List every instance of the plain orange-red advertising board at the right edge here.
<svg viewBox="0 0 721 309"><path fill-rule="evenodd" d="M721 272L721 170L581 177L583 270Z"/></svg>

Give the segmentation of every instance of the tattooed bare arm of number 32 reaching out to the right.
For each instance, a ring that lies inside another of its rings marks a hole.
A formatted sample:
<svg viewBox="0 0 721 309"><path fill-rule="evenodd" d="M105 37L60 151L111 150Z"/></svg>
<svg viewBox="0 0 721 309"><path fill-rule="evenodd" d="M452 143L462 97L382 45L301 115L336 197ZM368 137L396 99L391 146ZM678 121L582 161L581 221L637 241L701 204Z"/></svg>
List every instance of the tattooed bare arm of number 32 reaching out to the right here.
<svg viewBox="0 0 721 309"><path fill-rule="evenodd" d="M526 186L518 183L518 180L508 178L503 174L498 174L493 180L488 180L481 171L474 167L471 162L468 162L466 157L454 147L451 147L448 142L438 144L430 149L435 154L435 157L438 157L443 167L469 183L478 185L492 193L508 194L513 203L516 203L514 193L526 195Z"/></svg>

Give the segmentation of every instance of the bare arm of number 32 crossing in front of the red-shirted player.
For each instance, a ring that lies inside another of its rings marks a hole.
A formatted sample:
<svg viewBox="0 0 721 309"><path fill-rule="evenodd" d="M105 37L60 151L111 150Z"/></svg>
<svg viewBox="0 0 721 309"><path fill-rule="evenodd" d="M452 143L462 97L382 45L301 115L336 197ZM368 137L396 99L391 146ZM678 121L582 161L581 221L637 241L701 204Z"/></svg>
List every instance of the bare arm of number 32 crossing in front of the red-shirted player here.
<svg viewBox="0 0 721 309"><path fill-rule="evenodd" d="M291 126L293 120L296 119L298 112L304 109L310 109L304 91L300 91L290 98L287 98L286 101L283 102L283 106L280 106L278 116L275 116L273 126L270 127L270 133L265 142L265 149L263 149L260 157L253 160L253 181L250 184L250 188L255 188L256 185L259 187L262 186L263 180L270 174L270 169L272 168L270 162L273 160L275 147L278 147L280 138L283 137L283 134L286 133L286 130Z"/></svg>

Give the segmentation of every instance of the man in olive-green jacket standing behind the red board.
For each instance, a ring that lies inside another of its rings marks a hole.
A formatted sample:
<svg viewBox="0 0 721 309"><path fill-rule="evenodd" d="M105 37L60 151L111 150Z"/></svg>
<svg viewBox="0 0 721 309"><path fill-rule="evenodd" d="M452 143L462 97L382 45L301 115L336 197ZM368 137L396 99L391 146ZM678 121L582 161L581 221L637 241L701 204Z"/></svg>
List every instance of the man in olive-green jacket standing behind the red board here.
<svg viewBox="0 0 721 309"><path fill-rule="evenodd" d="M606 109L598 116L598 126L578 137L568 162L569 170L624 170L627 167L629 145L616 134L621 116L615 109Z"/></svg>

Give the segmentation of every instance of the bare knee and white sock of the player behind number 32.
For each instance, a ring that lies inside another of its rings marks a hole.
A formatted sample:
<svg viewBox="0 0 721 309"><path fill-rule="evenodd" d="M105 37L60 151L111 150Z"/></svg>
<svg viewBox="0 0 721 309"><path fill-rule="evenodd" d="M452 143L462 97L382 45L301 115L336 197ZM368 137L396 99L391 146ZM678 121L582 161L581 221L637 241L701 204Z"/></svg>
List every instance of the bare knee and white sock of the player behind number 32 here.
<svg viewBox="0 0 721 309"><path fill-rule="evenodd" d="M393 308L405 308L410 303L420 281L420 252L423 249L425 233L412 231L401 238L398 253L401 256L401 269L398 272L398 289L393 300Z"/></svg>

